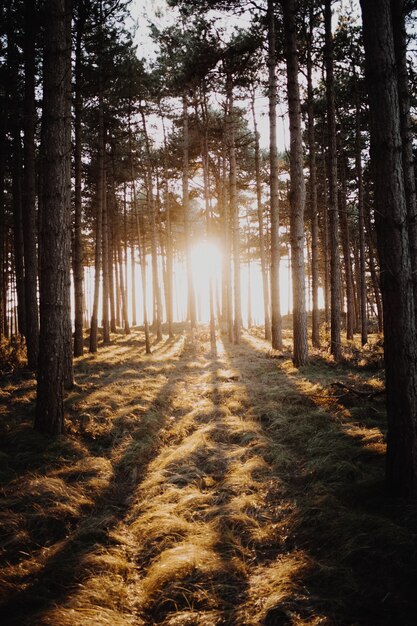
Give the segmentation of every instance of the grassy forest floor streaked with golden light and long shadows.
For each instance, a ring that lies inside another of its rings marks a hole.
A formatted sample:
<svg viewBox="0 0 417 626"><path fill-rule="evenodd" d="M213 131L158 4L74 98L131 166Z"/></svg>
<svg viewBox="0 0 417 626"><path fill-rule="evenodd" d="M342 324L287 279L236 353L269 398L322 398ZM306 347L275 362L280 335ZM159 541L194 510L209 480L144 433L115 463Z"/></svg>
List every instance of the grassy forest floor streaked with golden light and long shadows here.
<svg viewBox="0 0 417 626"><path fill-rule="evenodd" d="M295 369L257 331L147 356L135 330L75 371L56 441L34 378L1 377L2 625L415 625L375 339Z"/></svg>

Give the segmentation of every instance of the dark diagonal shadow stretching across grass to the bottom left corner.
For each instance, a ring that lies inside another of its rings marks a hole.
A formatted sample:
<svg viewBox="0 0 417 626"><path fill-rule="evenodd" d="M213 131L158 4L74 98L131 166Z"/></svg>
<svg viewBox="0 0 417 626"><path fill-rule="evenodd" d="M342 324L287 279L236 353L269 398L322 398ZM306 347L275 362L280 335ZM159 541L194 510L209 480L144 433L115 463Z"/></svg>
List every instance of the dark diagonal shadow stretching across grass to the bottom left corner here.
<svg viewBox="0 0 417 626"><path fill-rule="evenodd" d="M187 352L179 356L182 363L187 363L191 358L192 354ZM127 514L129 498L137 490L150 460L156 453L160 434L166 425L167 416L161 414L161 404L168 407L175 395L177 382L175 377L167 381L148 408L148 412L153 411L152 418L148 422L139 422L137 428L129 433L129 443L113 465L113 476L109 485L95 498L89 512L68 538L54 546L52 555L47 558L36 578L22 580L25 585L23 590L9 597L0 607L1 624L36 624L40 613L64 602L88 577L88 573L79 571L79 566L83 558L94 551L98 544L107 545L111 542L109 533ZM156 421L155 414L159 417ZM147 449L138 446L144 437L149 436L152 436L154 445ZM138 451L141 452L140 457L137 456ZM134 481L127 474L131 469L132 458L135 459L137 468L137 478Z"/></svg>

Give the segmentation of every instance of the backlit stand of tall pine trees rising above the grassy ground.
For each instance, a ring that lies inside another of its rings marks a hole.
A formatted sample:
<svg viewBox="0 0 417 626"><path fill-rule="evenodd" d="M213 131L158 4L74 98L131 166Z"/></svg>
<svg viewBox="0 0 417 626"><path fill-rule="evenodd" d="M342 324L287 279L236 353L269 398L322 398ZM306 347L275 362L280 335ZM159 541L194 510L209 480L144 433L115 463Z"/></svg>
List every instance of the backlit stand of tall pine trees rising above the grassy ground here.
<svg viewBox="0 0 417 626"><path fill-rule="evenodd" d="M384 330L387 479L393 493L410 495L416 81L406 23L415 7L362 0L362 11L343 9L335 27L331 0L169 5L173 25L151 29L152 63L133 44L128 2L5 0L0 8L0 336L24 343L37 371L35 427L63 432L64 389L74 384L86 326L91 352L99 330L108 344L139 320L147 352L151 324L158 339L164 323L173 335L176 258L185 259L185 308L196 327L191 250L205 232L223 253L221 285L207 286L212 341L219 328L239 343L241 266L256 262L265 338L282 350L287 248L295 365L309 356L307 302L310 345L321 347L325 325L336 361L342 333L360 333L365 345L370 323ZM258 132L262 97L268 150ZM283 100L288 153L277 142Z"/></svg>

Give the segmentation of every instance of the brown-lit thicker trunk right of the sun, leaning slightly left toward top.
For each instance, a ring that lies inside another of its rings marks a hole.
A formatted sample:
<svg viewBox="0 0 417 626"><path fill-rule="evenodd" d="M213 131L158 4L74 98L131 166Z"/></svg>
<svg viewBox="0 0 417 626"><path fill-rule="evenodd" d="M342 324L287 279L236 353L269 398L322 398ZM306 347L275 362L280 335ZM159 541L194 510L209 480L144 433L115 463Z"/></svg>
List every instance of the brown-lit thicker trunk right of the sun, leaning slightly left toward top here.
<svg viewBox="0 0 417 626"><path fill-rule="evenodd" d="M290 237L293 292L293 361L296 367L300 367L307 363L308 360L308 341L304 270L305 184L294 0L282 0L282 9L284 15L284 37L287 60L288 114L290 120Z"/></svg>

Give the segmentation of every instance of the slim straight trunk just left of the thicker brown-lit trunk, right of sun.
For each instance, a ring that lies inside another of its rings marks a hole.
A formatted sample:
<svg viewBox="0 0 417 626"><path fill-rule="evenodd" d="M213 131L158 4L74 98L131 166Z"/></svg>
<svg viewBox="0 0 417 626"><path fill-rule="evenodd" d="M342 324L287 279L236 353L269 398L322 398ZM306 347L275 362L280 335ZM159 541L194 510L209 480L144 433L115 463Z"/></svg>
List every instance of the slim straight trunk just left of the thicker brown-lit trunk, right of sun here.
<svg viewBox="0 0 417 626"><path fill-rule="evenodd" d="M274 0L268 0L269 189L271 211L271 334L272 347L282 350L279 286L280 236L278 203L277 77Z"/></svg>

